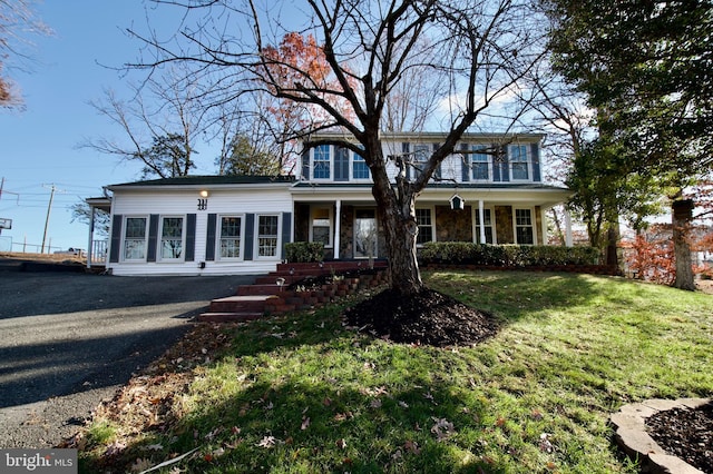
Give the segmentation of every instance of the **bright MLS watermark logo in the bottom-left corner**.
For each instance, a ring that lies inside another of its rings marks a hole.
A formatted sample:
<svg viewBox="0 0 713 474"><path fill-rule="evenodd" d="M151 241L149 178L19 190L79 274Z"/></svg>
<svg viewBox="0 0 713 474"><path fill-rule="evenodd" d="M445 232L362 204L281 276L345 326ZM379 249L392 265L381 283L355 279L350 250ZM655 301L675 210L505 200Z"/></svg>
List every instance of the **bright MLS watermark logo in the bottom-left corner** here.
<svg viewBox="0 0 713 474"><path fill-rule="evenodd" d="M0 473L77 474L77 450L0 450Z"/></svg>

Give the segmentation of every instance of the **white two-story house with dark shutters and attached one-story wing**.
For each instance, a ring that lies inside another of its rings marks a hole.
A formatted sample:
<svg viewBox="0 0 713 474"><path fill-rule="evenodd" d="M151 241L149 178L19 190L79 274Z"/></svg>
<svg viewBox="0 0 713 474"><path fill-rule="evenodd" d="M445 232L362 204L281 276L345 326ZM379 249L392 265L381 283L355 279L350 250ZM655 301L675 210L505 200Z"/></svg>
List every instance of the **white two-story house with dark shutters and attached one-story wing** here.
<svg viewBox="0 0 713 474"><path fill-rule="evenodd" d="M407 174L413 174L442 137L381 138L384 156L408 156ZM543 138L463 136L417 199L418 245L547 244L546 211L570 191L543 182ZM304 150L295 170L108 186L110 199L88 199L111 214L107 268L115 275L256 274L274 269L290 241L320 241L325 259L385 258L361 156L319 145ZM388 170L393 179L393 161Z"/></svg>

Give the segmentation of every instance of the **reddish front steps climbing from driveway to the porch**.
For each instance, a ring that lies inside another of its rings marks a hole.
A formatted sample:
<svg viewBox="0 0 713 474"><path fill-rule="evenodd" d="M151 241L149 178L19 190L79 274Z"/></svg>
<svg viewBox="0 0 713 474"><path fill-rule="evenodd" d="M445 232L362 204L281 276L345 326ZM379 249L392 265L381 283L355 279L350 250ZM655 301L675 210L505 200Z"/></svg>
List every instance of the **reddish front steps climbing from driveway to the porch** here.
<svg viewBox="0 0 713 474"><path fill-rule="evenodd" d="M275 271L258 277L253 285L237 288L235 296L211 302L199 322L226 323L257 319L320 306L361 288L375 287L385 282L385 261L375 261L377 271L365 270L365 263L335 261L319 264L279 264ZM324 284L321 278L348 275ZM282 280L282 285L277 280ZM301 285L304 283L304 285ZM290 287L292 289L289 289Z"/></svg>

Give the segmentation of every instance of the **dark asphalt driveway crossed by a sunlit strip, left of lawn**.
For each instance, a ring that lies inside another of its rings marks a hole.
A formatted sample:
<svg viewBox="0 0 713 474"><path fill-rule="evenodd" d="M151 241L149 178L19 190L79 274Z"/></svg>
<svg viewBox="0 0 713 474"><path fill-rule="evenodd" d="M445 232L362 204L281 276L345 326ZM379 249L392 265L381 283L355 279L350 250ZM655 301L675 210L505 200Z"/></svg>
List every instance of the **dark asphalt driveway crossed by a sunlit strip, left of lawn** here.
<svg viewBox="0 0 713 474"><path fill-rule="evenodd" d="M52 447L255 276L0 271L0 447Z"/></svg>

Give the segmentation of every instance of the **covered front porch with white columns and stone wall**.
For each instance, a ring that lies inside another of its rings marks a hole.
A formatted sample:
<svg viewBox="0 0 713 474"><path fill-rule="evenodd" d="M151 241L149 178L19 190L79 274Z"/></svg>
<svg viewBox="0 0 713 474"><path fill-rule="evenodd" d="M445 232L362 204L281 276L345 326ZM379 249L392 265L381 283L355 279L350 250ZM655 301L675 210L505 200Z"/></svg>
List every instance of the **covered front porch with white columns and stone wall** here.
<svg viewBox="0 0 713 474"><path fill-rule="evenodd" d="M385 258L385 241L379 226L370 187L340 189L313 187L294 195L294 241L324 244L325 259ZM346 191L346 192L345 192ZM416 203L419 226L417 245L428 241L547 245L546 213L561 204L569 191L533 186L508 188L429 188ZM566 244L572 246L569 216L565 219Z"/></svg>

